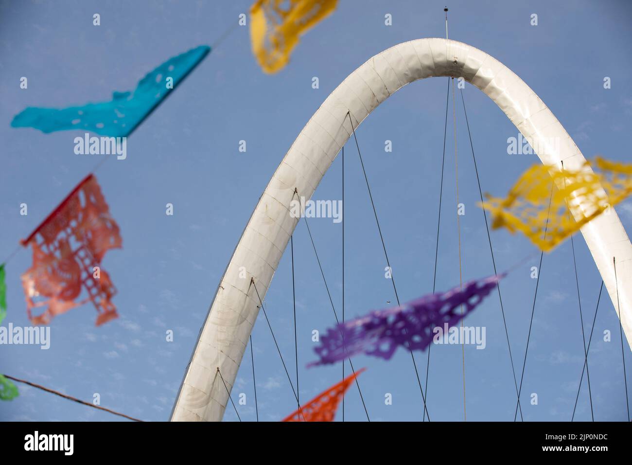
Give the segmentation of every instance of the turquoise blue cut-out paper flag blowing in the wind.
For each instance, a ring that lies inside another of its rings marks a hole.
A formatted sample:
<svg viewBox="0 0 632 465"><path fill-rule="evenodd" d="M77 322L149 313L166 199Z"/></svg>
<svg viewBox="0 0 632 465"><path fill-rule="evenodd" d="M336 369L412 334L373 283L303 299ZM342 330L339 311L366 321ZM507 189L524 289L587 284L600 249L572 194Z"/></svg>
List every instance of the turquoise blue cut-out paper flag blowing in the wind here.
<svg viewBox="0 0 632 465"><path fill-rule="evenodd" d="M13 118L13 127L42 132L80 129L110 137L126 137L175 89L209 53L199 46L173 58L147 74L135 90L114 92L109 102L70 108L28 107Z"/></svg>

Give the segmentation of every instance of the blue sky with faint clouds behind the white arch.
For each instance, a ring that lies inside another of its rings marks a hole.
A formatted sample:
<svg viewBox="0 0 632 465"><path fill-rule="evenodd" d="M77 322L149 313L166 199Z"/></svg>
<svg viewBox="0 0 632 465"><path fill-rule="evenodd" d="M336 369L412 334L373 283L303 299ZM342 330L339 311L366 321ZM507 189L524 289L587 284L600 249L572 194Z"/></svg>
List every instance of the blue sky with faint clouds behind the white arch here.
<svg viewBox="0 0 632 465"><path fill-rule="evenodd" d="M247 2L95 1L0 3L0 257L18 244L82 180L98 161L73 153L82 132L43 134L10 127L26 106L63 107L105 101L131 90L167 58L212 44L246 13ZM195 338L243 227L270 176L303 125L335 87L366 59L406 40L443 37L444 2L341 0L336 12L303 36L289 65L264 75L250 52L248 30L237 28L198 66L128 140L125 160L108 160L97 179L121 228L123 249L102 266L118 287L120 318L95 328L92 306L73 309L51 324L51 349L0 347L0 372L25 378L80 399L99 393L102 406L149 421L169 418ZM461 40L509 66L549 106L586 158L597 154L629 162L625 137L632 121L631 6L624 1L482 1L449 4L451 39ZM101 16L100 27L92 15ZM384 25L391 13L392 26ZM538 25L530 25L537 13ZM20 89L20 77L28 89ZM312 89L312 77L320 88ZM612 88L604 89L604 77ZM504 195L535 155L508 155L507 138L518 130L471 85L464 90L483 191ZM357 130L401 301L432 291L441 175L446 78L415 82L384 102ZM493 273L478 187L460 99L457 102L459 195L463 278ZM453 126L449 115L448 134ZM247 151L238 151L246 140ZM392 152L384 141L392 140ZM345 150L346 317L394 302L384 278L384 255L358 154ZM454 146L448 137L437 290L458 284ZM341 159L334 161L313 199L341 199ZM28 215L20 216L20 204ZM166 216L165 204L174 215ZM632 202L617 206L632 231ZM341 225L315 218L310 228L336 310L341 311ZM534 251L523 237L492 232L499 271ZM574 238L586 331L600 277L581 235ZM312 330L334 323L331 305L303 221L296 228L295 280L301 400L333 385L341 366L310 368ZM0 258L1 259L1 258ZM501 284L516 366L524 357L536 281L531 266ZM532 263L533 262L533 263ZM7 265L8 316L28 325L20 274L31 263L20 251ZM295 382L289 252L279 264L265 308ZM487 347L465 347L468 420L513 420L516 393L496 294L465 320L485 326ZM174 342L166 342L166 330ZM603 339L612 333L611 342ZM587 337L587 335L586 335ZM277 421L295 400L269 329L260 315L253 330L259 418ZM628 376L632 357L624 346ZM425 378L427 352L415 354ZM459 345L434 346L428 375L433 421L463 419ZM420 421L422 399L410 354L390 361L358 356L367 367L360 387L372 421ZM571 419L583 366L580 316L569 241L545 254L521 396L525 420ZM589 357L596 420L626 419L619 323L604 291ZM347 368L348 371L348 368ZM33 388L0 404L0 419L111 421L117 417L78 406ZM255 420L250 350L233 399L243 421ZM392 405L385 395L392 394ZM531 405L530 394L538 404ZM345 419L365 420L357 389L346 397ZM586 379L576 419L590 420ZM341 415L337 416L337 420ZM236 421L229 406L225 421Z"/></svg>

